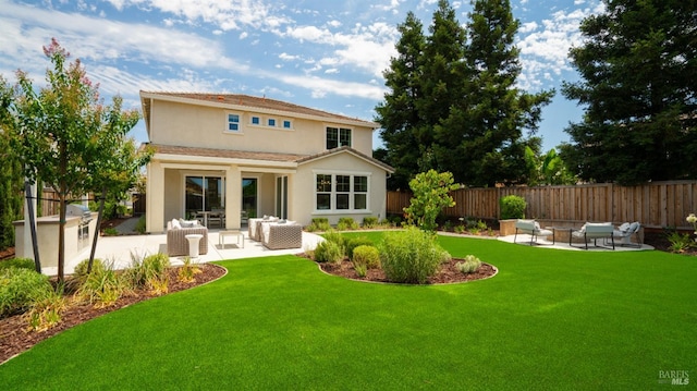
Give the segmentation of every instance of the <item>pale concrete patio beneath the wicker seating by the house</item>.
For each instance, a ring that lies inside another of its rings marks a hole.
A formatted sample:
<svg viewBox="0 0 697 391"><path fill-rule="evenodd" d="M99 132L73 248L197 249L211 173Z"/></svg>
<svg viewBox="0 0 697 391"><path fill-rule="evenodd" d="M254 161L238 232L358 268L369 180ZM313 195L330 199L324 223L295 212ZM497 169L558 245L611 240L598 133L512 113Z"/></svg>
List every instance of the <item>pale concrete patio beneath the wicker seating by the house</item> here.
<svg viewBox="0 0 697 391"><path fill-rule="evenodd" d="M119 232L131 233L135 223L129 219L123 224L117 227ZM244 247L239 247L235 240L225 237L224 248L218 244L218 232L220 230L208 231L208 254L200 255L197 259L199 262L210 262L223 259L242 259L254 257L266 257L284 254L299 254L305 251L315 249L317 243L323 239L317 234L303 232L303 247L289 249L268 249L260 242L255 242L247 237L245 229L242 230L244 235ZM65 261L65 274L73 273L75 266L84 259L89 259L91 248L83 249L75 258ZM167 254L167 234L127 234L120 236L100 236L97 242L97 251L95 258L107 261L113 261L117 269L123 269L132 265L133 258L142 259L144 256L163 253ZM182 257L171 257L170 262L174 266L182 265ZM44 267L41 272L48 276L58 274L57 267Z"/></svg>

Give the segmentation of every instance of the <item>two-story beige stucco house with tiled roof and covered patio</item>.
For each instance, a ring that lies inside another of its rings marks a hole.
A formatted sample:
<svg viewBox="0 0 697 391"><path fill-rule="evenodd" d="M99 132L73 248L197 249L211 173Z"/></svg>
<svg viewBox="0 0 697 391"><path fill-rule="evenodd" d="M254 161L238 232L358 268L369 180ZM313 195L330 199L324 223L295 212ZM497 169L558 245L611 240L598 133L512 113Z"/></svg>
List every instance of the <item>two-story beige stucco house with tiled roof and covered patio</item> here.
<svg viewBox="0 0 697 391"><path fill-rule="evenodd" d="M374 158L369 121L246 95L140 91L155 155L148 232L200 211L246 218L384 217L393 169Z"/></svg>

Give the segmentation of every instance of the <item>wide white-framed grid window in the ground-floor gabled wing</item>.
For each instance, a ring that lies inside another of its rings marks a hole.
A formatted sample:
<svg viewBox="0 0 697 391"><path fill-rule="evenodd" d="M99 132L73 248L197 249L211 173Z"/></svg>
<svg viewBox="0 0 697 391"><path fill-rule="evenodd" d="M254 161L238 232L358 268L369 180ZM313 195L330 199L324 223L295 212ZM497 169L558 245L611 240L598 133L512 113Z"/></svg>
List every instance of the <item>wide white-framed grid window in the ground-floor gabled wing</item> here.
<svg viewBox="0 0 697 391"><path fill-rule="evenodd" d="M368 173L315 173L315 211L368 212Z"/></svg>

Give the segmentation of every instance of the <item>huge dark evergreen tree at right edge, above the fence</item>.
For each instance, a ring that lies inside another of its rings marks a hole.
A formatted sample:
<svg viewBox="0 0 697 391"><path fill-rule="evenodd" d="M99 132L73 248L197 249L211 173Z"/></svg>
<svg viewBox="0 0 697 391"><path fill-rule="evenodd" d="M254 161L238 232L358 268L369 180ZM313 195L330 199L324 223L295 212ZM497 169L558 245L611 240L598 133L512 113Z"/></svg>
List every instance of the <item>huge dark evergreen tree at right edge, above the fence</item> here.
<svg viewBox="0 0 697 391"><path fill-rule="evenodd" d="M697 178L697 1L603 0L570 52L585 106L562 156L587 181Z"/></svg>

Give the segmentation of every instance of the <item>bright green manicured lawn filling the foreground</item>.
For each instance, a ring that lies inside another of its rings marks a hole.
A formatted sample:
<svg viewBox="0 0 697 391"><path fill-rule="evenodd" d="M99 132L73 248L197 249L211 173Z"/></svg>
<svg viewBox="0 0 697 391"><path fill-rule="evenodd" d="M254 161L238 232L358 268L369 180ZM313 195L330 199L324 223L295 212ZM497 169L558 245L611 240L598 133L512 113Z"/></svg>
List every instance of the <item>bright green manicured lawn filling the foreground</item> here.
<svg viewBox="0 0 697 391"><path fill-rule="evenodd" d="M380 233L357 233L379 237ZM697 259L441 237L497 277L400 286L307 259L223 261L215 283L69 330L0 366L8 390L626 389L697 371ZM695 379L690 379L690 386Z"/></svg>

